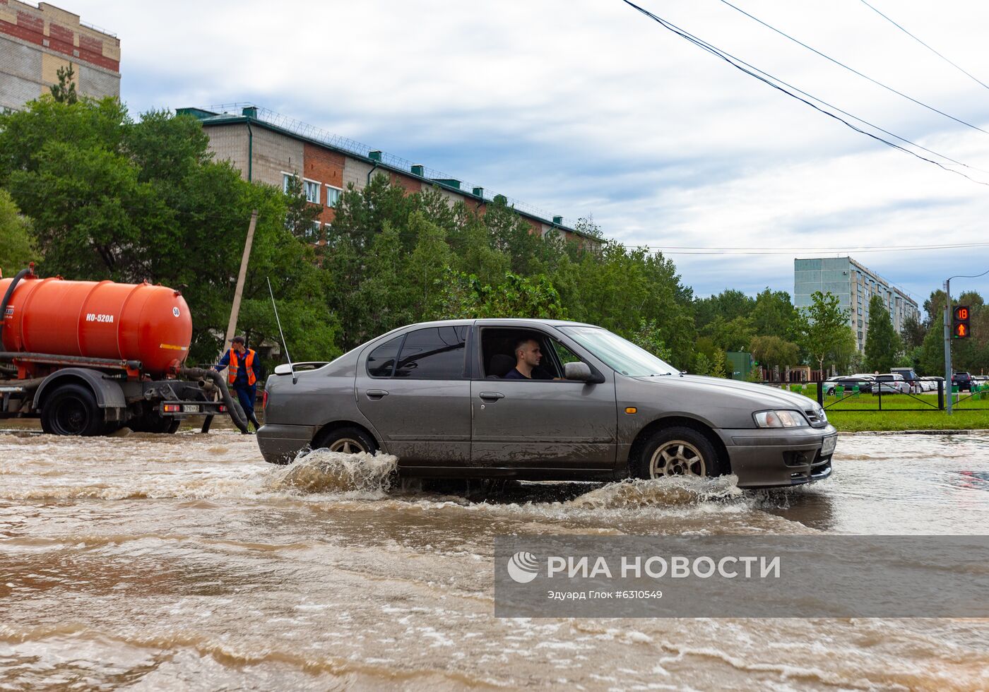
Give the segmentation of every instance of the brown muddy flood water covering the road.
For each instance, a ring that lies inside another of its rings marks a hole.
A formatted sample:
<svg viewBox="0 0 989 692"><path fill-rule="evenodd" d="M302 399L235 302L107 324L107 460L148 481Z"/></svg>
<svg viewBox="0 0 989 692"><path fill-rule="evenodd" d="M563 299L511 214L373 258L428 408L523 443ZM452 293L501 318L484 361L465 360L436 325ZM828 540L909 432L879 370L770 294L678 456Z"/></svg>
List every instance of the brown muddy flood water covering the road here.
<svg viewBox="0 0 989 692"><path fill-rule="evenodd" d="M989 435L841 438L835 476L387 487L253 438L0 434L0 689L989 688L989 622L496 619L498 534L984 534Z"/></svg>

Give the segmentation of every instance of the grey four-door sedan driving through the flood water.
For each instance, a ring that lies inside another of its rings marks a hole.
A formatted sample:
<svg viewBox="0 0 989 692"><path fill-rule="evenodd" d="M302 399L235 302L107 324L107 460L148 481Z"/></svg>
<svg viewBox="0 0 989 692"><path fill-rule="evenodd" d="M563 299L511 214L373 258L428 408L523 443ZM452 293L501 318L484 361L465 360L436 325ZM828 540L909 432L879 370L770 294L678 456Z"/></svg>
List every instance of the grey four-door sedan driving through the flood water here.
<svg viewBox="0 0 989 692"><path fill-rule="evenodd" d="M543 379L506 379L533 339ZM735 474L742 486L831 475L837 432L817 402L685 375L591 324L412 324L328 364L268 378L268 462L306 447L399 458L402 476L529 479Z"/></svg>

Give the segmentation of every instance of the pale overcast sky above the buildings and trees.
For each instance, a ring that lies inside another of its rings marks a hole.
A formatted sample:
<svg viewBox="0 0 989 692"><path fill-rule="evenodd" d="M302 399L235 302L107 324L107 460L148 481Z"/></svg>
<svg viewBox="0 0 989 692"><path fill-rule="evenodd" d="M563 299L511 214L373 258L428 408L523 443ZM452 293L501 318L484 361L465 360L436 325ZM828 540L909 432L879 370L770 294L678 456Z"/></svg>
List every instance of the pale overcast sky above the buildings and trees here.
<svg viewBox="0 0 989 692"><path fill-rule="evenodd" d="M986 184L850 130L621 0L56 2L120 37L135 114L252 102L568 223L592 216L607 237L664 250L698 296L792 292L794 257L851 254L919 303L989 269L985 246L856 249L989 243L989 131L975 129L989 130L989 88L861 0L733 3L974 128L721 0L639 2ZM869 4L989 84L989 3Z"/></svg>

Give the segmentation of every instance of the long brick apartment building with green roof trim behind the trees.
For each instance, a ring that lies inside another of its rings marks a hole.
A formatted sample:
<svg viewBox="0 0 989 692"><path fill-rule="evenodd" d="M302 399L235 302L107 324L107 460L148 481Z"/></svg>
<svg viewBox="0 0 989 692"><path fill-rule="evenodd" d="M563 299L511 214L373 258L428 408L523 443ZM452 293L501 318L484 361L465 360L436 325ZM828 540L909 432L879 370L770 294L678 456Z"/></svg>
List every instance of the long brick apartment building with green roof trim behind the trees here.
<svg viewBox="0 0 989 692"><path fill-rule="evenodd" d="M308 238L315 243L325 242L333 222L333 207L343 190L350 183L359 190L374 175L387 175L392 184L409 193L434 186L451 204L462 201L482 213L489 202L500 197L264 109L246 106L237 107L233 113L220 110L181 108L178 113L200 119L217 158L230 161L244 179L287 189L293 176L302 178L307 199L320 208ZM545 235L555 228L567 240L587 245L600 242L564 224L562 216L546 215L506 198L505 201L514 206L533 233Z"/></svg>

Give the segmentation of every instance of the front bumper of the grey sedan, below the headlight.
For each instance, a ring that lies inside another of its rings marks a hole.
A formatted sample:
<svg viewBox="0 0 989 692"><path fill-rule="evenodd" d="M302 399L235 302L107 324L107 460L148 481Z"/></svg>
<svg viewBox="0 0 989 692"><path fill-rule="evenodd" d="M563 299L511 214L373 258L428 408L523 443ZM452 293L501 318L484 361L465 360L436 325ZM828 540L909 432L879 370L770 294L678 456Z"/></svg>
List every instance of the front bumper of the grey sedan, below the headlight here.
<svg viewBox="0 0 989 692"><path fill-rule="evenodd" d="M834 451L822 454L821 450L825 438L838 435L833 425L719 430L718 434L741 487L799 485L831 476Z"/></svg>

